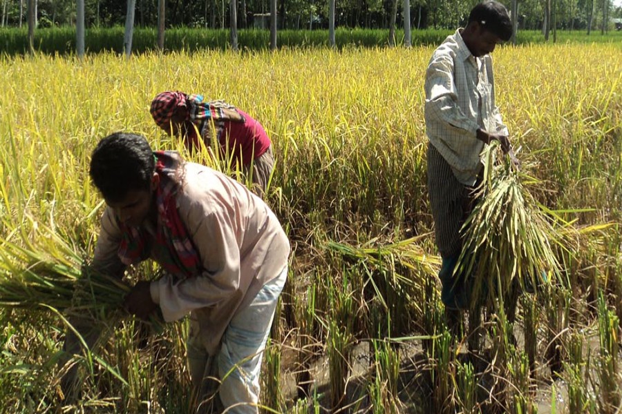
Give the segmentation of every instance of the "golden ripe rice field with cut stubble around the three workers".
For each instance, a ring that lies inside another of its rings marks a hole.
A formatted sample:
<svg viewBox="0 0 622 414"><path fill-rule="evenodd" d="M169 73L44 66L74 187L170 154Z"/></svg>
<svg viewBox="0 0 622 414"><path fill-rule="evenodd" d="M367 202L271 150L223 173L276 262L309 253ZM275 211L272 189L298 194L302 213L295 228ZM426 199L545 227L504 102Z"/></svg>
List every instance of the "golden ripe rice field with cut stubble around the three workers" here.
<svg viewBox="0 0 622 414"><path fill-rule="evenodd" d="M616 412L621 45L505 46L493 54L524 190L553 228L576 233L572 246L556 250L565 284L519 299L516 342L500 339L503 317L484 313L477 357L466 339L451 344L438 293L423 116L432 51L0 58L0 277L10 273L9 245L79 268L103 206L88 181L97 141L123 130L183 152L153 124L149 103L162 90L203 93L261 121L276 153L267 202L292 255L264 355L266 412ZM142 266L130 281L154 275ZM4 412L62 405L61 315L0 304ZM88 374L80 409L188 412L186 324L144 340L129 317L107 320L110 340L93 350L97 357L76 361Z"/></svg>

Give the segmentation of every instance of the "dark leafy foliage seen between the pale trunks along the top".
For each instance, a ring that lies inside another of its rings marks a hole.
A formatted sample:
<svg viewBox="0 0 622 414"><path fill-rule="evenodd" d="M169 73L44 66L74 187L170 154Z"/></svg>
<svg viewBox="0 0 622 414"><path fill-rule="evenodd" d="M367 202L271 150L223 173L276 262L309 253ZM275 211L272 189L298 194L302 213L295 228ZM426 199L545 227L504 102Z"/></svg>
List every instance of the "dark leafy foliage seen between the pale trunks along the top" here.
<svg viewBox="0 0 622 414"><path fill-rule="evenodd" d="M3 21L8 26L18 26L20 21L19 3L26 0L6 0L3 2ZM85 0L86 26L111 27L123 25L126 3L115 0ZM137 0L135 24L137 26L157 26L158 0ZM469 15L477 0L411 0L410 16L413 28L444 28L459 26ZM511 0L503 0L511 10ZM229 28L229 5L227 1L167 0L166 23L168 28L186 26L195 28ZM386 0L343 0L335 5L335 23L346 28L388 28L392 1ZM622 17L621 4L614 1L565 0L554 3L555 19L560 30L585 30L594 17L592 27L599 27L607 8L610 17ZM542 28L544 6L540 0L520 0L520 29L537 30ZM261 25L262 18L255 14L270 13L267 0L245 0L238 2L237 27L252 28ZM328 0L287 0L279 2L278 24L281 29L328 28ZM26 19L26 7L22 9L21 20ZM73 25L76 4L74 0L37 0L37 21L39 27ZM403 27L403 10L397 8L397 26ZM261 26L260 26L261 27Z"/></svg>

